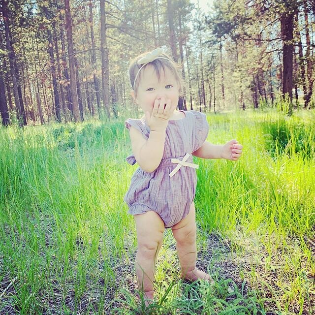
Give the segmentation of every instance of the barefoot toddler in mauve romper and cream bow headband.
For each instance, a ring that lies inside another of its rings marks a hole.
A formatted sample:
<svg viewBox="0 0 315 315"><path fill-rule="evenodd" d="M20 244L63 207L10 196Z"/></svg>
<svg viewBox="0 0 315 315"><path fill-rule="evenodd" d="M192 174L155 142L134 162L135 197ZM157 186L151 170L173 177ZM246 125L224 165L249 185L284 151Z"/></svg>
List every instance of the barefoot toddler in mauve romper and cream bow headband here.
<svg viewBox="0 0 315 315"><path fill-rule="evenodd" d="M155 261L165 228L171 228L183 279L212 281L196 268L196 223L193 199L198 158L237 160L242 145L206 141L209 125L200 112L176 110L183 80L181 70L161 48L135 58L129 67L131 95L141 107L141 119L127 119L133 155L138 163L125 195L134 216L138 251L135 270L146 305L153 302Z"/></svg>

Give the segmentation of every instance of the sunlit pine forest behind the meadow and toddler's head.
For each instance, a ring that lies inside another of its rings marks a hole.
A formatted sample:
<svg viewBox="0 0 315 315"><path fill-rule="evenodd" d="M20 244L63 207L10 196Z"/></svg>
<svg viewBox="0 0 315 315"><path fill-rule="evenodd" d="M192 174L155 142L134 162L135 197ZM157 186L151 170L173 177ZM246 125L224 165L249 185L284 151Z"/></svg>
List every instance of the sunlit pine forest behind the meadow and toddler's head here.
<svg viewBox="0 0 315 315"><path fill-rule="evenodd" d="M126 69L165 46L183 65L179 108L314 107L315 2L7 1L0 19L2 124L118 117ZM313 97L312 97L313 96Z"/></svg>

